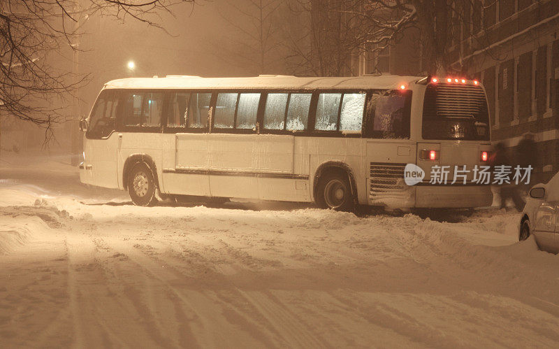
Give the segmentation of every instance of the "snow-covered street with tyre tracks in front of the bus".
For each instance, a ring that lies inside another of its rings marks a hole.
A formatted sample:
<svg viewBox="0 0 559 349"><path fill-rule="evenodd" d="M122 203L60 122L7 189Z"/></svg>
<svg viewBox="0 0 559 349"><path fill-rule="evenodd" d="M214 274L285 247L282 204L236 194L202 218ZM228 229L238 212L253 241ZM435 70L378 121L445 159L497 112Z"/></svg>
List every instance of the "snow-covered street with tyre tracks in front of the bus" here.
<svg viewBox="0 0 559 349"><path fill-rule="evenodd" d="M3 347L557 347L559 257L518 214L131 206L0 161Z"/></svg>

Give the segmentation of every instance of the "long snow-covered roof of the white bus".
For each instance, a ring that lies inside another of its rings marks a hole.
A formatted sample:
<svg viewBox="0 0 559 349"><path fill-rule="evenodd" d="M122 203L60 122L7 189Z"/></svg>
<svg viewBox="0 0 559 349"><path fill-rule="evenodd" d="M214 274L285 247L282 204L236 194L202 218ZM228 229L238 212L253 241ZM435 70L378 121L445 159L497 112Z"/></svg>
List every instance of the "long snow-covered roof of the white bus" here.
<svg viewBox="0 0 559 349"><path fill-rule="evenodd" d="M105 88L126 89L398 89L420 80L418 76L358 76L342 78L298 78L296 76L256 76L251 78L201 78L167 76L165 78L125 78L112 80Z"/></svg>

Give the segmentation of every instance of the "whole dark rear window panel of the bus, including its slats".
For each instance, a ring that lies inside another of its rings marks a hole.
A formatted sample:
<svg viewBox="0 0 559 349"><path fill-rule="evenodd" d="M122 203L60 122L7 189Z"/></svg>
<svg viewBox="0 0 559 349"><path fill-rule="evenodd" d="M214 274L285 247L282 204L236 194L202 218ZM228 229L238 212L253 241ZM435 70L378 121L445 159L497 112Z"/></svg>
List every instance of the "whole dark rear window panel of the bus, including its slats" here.
<svg viewBox="0 0 559 349"><path fill-rule="evenodd" d="M481 86L429 85L423 102L424 139L489 140L489 113Z"/></svg>

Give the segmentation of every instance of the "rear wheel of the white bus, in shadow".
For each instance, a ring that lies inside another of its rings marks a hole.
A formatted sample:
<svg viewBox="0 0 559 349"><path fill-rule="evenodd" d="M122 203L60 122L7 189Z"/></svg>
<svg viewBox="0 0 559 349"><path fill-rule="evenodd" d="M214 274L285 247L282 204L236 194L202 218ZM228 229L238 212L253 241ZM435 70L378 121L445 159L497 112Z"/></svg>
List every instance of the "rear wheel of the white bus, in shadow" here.
<svg viewBox="0 0 559 349"><path fill-rule="evenodd" d="M354 200L347 175L334 172L322 176L317 186L315 201L320 208L351 211L354 208Z"/></svg>

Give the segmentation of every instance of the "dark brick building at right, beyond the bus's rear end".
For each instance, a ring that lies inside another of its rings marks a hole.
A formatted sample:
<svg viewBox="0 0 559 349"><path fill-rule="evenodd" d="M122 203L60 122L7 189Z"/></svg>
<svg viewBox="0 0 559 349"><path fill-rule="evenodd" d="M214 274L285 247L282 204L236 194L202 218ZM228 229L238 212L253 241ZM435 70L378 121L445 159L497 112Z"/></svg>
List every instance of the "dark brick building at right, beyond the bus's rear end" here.
<svg viewBox="0 0 559 349"><path fill-rule="evenodd" d="M499 0L483 19L462 59L486 88L493 142L514 151L523 134L535 134L535 180L547 180L559 170L559 1Z"/></svg>

